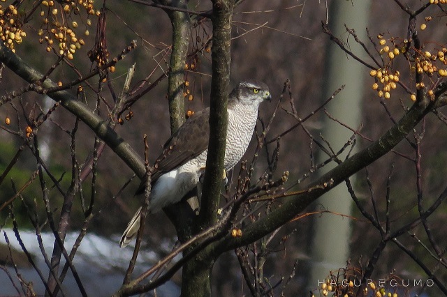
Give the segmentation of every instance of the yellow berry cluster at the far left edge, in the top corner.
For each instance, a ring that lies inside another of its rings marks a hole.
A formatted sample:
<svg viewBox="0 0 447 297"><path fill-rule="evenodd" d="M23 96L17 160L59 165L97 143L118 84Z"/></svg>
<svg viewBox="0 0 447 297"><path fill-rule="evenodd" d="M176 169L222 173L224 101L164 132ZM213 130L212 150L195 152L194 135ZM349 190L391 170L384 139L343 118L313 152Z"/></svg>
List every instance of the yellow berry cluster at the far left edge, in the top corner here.
<svg viewBox="0 0 447 297"><path fill-rule="evenodd" d="M6 0L0 0L5 2ZM27 36L22 30L22 23L19 22L19 13L12 4L3 7L0 4L0 38L3 43L15 52L14 44L22 43L22 38Z"/></svg>

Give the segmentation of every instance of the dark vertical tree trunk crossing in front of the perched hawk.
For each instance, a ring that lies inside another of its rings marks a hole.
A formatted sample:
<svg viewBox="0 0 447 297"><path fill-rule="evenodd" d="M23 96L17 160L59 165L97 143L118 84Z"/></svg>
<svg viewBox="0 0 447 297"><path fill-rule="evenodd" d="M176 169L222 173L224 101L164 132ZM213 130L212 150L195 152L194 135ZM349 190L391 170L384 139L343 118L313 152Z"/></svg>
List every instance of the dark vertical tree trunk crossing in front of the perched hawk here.
<svg viewBox="0 0 447 297"><path fill-rule="evenodd" d="M228 123L226 105L230 80L233 5L232 0L213 1L210 143L197 231L210 227L217 221ZM214 258L209 255L205 249L183 267L182 296L211 296Z"/></svg>

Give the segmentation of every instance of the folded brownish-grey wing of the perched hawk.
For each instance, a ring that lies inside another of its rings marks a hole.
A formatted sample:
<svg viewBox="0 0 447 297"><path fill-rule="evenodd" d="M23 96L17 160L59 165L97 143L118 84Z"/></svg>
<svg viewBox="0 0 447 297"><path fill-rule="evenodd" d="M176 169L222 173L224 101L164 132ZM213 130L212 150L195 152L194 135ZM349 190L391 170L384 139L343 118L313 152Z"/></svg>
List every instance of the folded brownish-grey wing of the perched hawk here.
<svg viewBox="0 0 447 297"><path fill-rule="evenodd" d="M208 148L210 138L210 109L196 112L166 141L163 152L156 159L152 184L162 174L184 165ZM145 181L140 183L135 195L145 189Z"/></svg>

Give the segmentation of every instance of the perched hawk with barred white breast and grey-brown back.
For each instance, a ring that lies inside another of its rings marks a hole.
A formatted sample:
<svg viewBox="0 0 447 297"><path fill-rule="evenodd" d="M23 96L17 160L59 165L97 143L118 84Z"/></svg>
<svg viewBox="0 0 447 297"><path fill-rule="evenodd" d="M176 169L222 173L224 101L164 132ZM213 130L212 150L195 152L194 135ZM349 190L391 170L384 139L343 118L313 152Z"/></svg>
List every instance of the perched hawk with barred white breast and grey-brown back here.
<svg viewBox="0 0 447 297"><path fill-rule="evenodd" d="M268 86L254 80L237 84L228 96L228 128L226 134L223 167L228 170L240 161L254 132L258 119L258 107L264 100L271 100ZM163 147L163 153L155 162L152 173L152 191L149 196L149 213L180 201L199 182L200 174L207 160L208 139L210 137L210 108L193 114ZM144 183L139 191L144 190ZM140 228L141 209L119 241L121 248L137 235Z"/></svg>

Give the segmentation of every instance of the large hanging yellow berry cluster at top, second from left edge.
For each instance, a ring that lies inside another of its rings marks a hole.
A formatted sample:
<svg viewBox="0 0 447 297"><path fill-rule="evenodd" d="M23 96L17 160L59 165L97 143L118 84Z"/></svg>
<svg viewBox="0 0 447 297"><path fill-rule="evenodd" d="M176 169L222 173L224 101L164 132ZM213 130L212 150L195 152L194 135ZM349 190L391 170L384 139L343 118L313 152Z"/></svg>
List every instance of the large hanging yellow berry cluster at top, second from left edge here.
<svg viewBox="0 0 447 297"><path fill-rule="evenodd" d="M38 29L39 43L46 43L47 52L57 50L60 55L66 55L70 60L73 54L79 50L85 41L79 37L78 22L73 20L73 15L79 15L80 10L85 10L87 15L99 15L99 10L94 10L94 0L64 0L54 2L54 0L44 0L41 3L41 17L43 17L43 26ZM61 8L61 9L59 9ZM64 15L59 15L64 14ZM60 22L64 20L64 22ZM68 21L71 20L71 21ZM91 25L91 19L87 18L85 25ZM89 30L85 29L85 36L89 36Z"/></svg>

